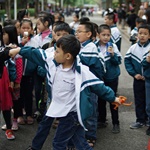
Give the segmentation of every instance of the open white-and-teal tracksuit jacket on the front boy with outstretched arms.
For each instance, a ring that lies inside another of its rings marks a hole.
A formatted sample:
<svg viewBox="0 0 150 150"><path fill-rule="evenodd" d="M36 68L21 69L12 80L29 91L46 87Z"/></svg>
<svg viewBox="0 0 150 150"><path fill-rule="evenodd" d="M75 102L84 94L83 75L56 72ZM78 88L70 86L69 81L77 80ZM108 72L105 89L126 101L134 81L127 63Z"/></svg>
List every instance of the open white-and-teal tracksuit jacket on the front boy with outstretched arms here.
<svg viewBox="0 0 150 150"><path fill-rule="evenodd" d="M47 89L49 97L51 95L51 87L54 80L54 76L59 65L52 57L47 58L45 51L42 49L36 49L33 47L23 47L20 50L20 55L28 58L30 61L42 66L47 70ZM113 102L115 100L114 92L111 88L105 86L103 81L99 80L93 73L89 71L89 68L82 65L79 57L74 63L75 71L75 92L76 92L76 107L80 124L86 129L86 121L92 116L94 108L90 103L91 92L97 94L104 100Z"/></svg>

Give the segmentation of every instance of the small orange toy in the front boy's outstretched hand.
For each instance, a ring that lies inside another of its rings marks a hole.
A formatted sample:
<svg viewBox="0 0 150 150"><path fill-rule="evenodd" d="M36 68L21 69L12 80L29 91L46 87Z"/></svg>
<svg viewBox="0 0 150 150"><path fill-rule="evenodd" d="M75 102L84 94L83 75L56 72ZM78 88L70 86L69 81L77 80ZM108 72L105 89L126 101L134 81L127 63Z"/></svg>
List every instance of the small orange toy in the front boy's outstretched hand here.
<svg viewBox="0 0 150 150"><path fill-rule="evenodd" d="M120 101L120 104L117 103L117 102L112 102L112 105L115 105L114 109L116 110L119 105L125 105L125 106L131 106L132 105L132 102L130 103L125 103L125 101L127 100L127 98L125 96L119 96L119 101Z"/></svg>

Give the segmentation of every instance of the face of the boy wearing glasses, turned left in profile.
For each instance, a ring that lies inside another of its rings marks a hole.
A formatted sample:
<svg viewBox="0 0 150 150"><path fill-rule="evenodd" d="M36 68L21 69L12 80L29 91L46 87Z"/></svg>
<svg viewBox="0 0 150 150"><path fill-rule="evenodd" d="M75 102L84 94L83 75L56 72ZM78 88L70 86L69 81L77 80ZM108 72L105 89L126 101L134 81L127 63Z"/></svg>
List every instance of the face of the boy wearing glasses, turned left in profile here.
<svg viewBox="0 0 150 150"><path fill-rule="evenodd" d="M83 43L90 39L91 32L86 31L84 25L79 25L76 30L76 38L80 41L80 43Z"/></svg>

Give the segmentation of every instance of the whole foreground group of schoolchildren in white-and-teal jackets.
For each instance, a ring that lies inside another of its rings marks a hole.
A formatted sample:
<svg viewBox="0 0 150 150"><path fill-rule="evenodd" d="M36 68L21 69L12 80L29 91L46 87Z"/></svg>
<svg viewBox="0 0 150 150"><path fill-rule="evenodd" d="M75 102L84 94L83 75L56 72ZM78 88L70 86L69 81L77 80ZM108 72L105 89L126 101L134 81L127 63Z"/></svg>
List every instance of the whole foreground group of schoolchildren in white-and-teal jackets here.
<svg viewBox="0 0 150 150"><path fill-rule="evenodd" d="M107 126L106 101L110 103L112 132L120 132L118 108L115 110L112 105L114 101L120 104L116 93L122 60L119 52L121 34L114 17L113 13L106 14L105 24L99 26L83 19L74 28L64 21L53 23L52 16L42 12L37 20L37 35L34 35L32 21L28 18L22 18L19 36L12 22L12 25L3 27L0 84L6 89L0 89L0 109L6 122L7 139L15 138L12 130L18 130L18 123L33 124L33 88L38 110L45 79L48 109L28 150L42 148L55 118L59 123L53 139L54 150L66 150L72 146L79 150L91 150L96 142L97 125ZM125 56L126 69L134 77L137 117L130 128L144 126L150 117L149 35L149 26L140 26L139 41ZM12 107L14 119L11 124ZM147 134L150 135L150 128Z"/></svg>

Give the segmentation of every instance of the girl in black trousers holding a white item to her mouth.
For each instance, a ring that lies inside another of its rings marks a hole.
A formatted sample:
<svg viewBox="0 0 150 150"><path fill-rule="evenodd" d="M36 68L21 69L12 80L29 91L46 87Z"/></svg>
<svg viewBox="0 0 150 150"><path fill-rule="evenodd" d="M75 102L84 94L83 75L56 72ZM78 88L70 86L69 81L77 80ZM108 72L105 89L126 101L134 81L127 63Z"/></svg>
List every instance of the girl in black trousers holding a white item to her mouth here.
<svg viewBox="0 0 150 150"><path fill-rule="evenodd" d="M20 46L32 46L37 47L38 43L33 38L33 24L30 19L25 18L20 23L20 36L19 36ZM20 89L20 105L25 108L26 111L26 122L27 124L33 124L34 120L32 118L32 91L33 91L33 74L36 71L37 65L31 63L29 60L23 58L23 76L21 80ZM25 124L23 118L22 109L18 110L19 124Z"/></svg>

